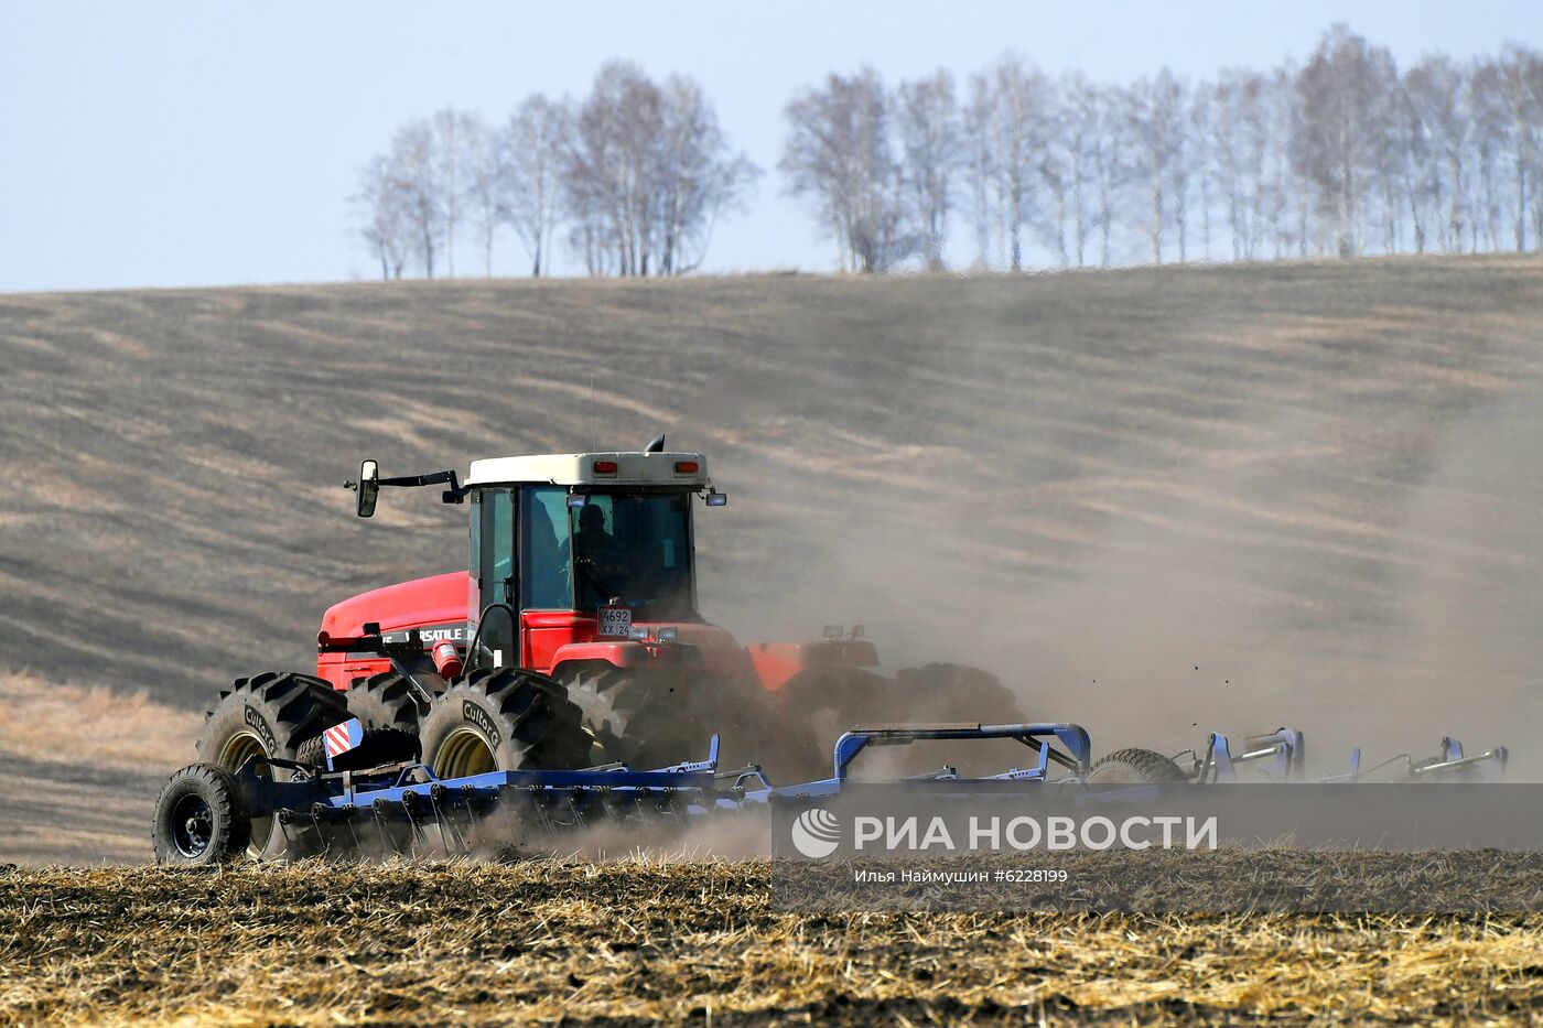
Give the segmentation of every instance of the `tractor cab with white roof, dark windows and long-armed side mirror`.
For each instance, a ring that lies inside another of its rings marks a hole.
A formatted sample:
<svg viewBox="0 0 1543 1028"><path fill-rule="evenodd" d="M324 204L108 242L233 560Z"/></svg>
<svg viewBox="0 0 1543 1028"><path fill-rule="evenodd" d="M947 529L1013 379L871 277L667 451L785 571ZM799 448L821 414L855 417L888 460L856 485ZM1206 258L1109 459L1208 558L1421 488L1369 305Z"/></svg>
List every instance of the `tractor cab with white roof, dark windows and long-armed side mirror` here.
<svg viewBox="0 0 1543 1028"><path fill-rule="evenodd" d="M583 661L657 662L676 644L697 656L731 648L744 661L731 636L697 613L693 508L728 502L702 454L656 443L643 452L500 457L472 462L464 483L454 472L380 478L375 462L364 462L361 517L387 485L447 485L444 500L469 506L466 622L455 639L492 667L559 673ZM429 582L443 591L446 577ZM378 599L370 610L381 610Z"/></svg>

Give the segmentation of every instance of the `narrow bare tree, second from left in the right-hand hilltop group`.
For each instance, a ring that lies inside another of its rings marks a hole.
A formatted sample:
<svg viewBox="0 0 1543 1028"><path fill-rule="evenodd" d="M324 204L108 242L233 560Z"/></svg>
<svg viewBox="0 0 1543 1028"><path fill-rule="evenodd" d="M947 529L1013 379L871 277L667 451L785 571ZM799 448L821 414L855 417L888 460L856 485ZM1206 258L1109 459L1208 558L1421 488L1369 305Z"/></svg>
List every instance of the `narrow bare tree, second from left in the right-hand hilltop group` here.
<svg viewBox="0 0 1543 1028"><path fill-rule="evenodd" d="M904 178L921 227L921 249L932 270L943 269L954 173L961 161L954 76L938 71L900 86L900 137Z"/></svg>

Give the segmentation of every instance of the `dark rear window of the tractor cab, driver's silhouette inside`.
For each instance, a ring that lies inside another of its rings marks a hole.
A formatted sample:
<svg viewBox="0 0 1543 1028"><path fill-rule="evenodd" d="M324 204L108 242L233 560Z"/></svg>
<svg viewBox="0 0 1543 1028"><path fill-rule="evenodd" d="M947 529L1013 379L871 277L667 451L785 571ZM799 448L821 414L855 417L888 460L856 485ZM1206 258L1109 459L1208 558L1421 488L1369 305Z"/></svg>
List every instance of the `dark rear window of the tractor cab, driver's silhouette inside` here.
<svg viewBox="0 0 1543 1028"><path fill-rule="evenodd" d="M606 492L569 508L576 608L619 602L640 621L691 616L690 499L685 492Z"/></svg>

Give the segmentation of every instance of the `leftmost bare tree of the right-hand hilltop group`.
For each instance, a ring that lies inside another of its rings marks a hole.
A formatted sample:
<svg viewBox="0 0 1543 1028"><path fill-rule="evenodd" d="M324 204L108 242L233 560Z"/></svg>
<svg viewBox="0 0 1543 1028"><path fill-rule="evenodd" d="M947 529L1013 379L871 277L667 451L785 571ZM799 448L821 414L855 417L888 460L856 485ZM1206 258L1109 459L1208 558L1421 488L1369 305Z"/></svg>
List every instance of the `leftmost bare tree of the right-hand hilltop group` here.
<svg viewBox="0 0 1543 1028"><path fill-rule="evenodd" d="M779 168L788 193L829 227L841 269L883 272L903 261L915 233L906 225L904 174L878 73L832 74L822 88L801 90L782 114L788 136Z"/></svg>

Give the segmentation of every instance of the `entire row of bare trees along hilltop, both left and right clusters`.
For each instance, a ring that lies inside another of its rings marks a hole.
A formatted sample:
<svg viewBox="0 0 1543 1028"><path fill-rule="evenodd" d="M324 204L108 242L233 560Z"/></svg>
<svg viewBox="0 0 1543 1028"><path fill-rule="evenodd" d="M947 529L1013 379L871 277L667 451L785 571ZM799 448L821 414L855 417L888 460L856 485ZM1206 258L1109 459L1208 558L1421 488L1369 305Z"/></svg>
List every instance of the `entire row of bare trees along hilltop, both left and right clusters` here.
<svg viewBox="0 0 1543 1028"><path fill-rule="evenodd" d="M1344 26L1301 63L1102 83L1015 54L955 82L830 74L784 108L784 191L847 272L1543 249L1543 54L1506 45L1400 69ZM691 79L611 62L588 97L492 130L441 111L361 174L383 276L483 273L505 227L532 275L562 235L591 275L679 275L759 170ZM964 225L967 244L950 233Z"/></svg>

